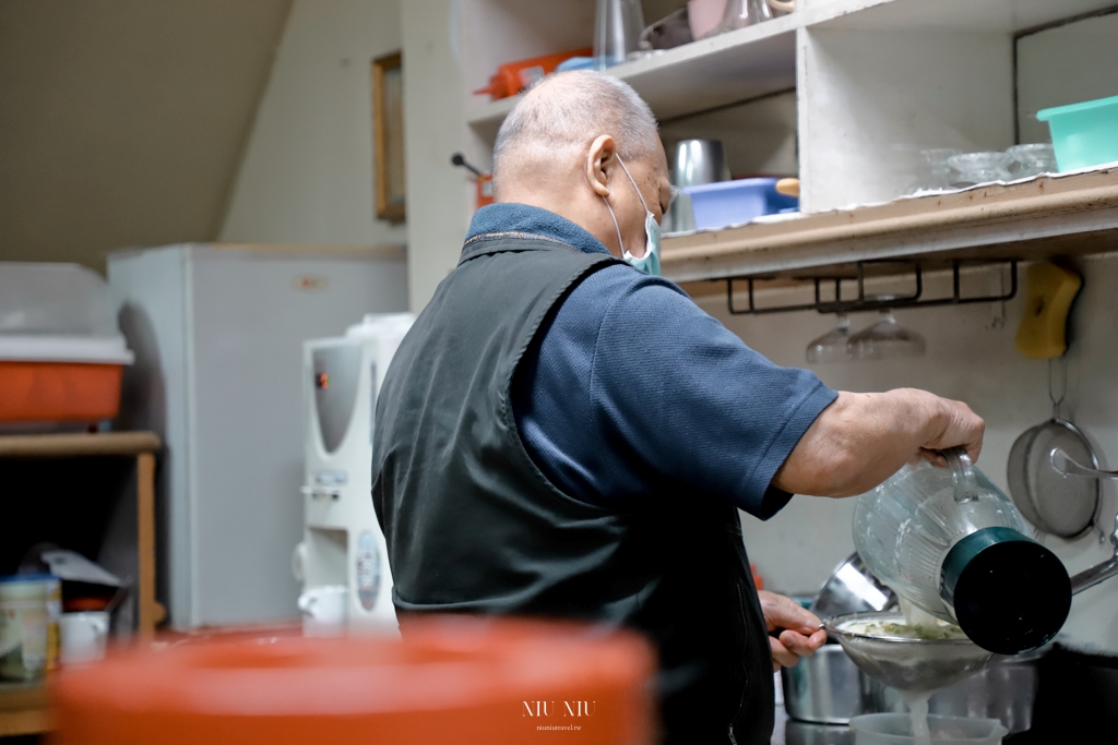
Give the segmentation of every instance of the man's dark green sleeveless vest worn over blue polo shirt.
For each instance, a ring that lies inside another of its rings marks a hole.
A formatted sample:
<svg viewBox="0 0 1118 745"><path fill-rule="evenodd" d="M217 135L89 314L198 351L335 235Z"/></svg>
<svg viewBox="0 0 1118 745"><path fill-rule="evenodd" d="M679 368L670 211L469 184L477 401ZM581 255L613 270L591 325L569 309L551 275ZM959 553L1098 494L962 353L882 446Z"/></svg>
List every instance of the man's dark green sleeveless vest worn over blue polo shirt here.
<svg viewBox="0 0 1118 745"><path fill-rule="evenodd" d="M377 404L372 495L392 600L401 615L637 629L660 653L665 742L768 743L771 658L737 510L685 484L588 505L548 481L517 430L512 380L541 323L618 261L520 233L466 245Z"/></svg>

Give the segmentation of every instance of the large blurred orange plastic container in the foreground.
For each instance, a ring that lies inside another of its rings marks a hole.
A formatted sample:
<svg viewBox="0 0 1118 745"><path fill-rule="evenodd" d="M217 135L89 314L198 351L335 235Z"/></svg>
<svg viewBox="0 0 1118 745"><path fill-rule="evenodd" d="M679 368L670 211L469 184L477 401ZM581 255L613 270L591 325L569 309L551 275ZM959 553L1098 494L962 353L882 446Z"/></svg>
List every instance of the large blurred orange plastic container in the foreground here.
<svg viewBox="0 0 1118 745"><path fill-rule="evenodd" d="M638 745L653 742L653 669L634 636L532 621L198 642L64 671L53 742Z"/></svg>

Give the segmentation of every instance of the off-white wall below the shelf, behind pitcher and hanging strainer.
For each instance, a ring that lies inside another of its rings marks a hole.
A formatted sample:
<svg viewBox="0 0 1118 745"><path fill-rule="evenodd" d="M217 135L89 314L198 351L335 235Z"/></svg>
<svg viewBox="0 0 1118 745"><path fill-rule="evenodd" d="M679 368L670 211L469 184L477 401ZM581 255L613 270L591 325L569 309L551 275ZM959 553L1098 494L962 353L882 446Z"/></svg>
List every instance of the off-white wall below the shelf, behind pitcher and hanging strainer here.
<svg viewBox="0 0 1118 745"><path fill-rule="evenodd" d="M1118 257L1092 258L1077 264L1084 287L1072 309L1068 352L1068 399L1063 414L1080 426L1098 448L1099 459L1118 467ZM1022 274L1022 280L1024 276ZM928 354L917 360L849 362L818 365L815 372L839 390L884 391L915 386L966 401L986 419L986 445L978 466L1006 488L1006 460L1014 439L1051 416L1048 363L1025 360L1014 347L1021 318L1023 289L1005 304L977 304L957 308L900 311L898 321L925 335ZM700 305L721 319L747 344L784 365L805 366L808 341L834 326L833 316L815 313L774 316L729 316L726 298L711 297ZM872 314L852 317L855 328L874 321ZM1107 467L1107 466L1103 466ZM1112 484L1103 486L1101 523L1114 526L1118 498ZM750 561L767 586L788 593L814 593L839 562L853 551L853 500L797 496L768 523L742 518ZM1046 538L1045 544L1074 573L1105 560L1110 545L1097 535L1072 542ZM1076 598L1064 629L1079 644L1100 644L1118 651L1118 579Z"/></svg>

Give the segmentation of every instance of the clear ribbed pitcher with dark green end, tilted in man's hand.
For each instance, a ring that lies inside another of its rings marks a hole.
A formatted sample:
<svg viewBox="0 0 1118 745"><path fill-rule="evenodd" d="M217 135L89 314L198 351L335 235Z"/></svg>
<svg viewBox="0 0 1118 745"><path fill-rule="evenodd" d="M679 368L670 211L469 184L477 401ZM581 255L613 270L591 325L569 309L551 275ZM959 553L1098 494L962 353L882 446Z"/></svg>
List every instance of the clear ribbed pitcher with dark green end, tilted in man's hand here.
<svg viewBox="0 0 1118 745"><path fill-rule="evenodd" d="M1071 603L1067 570L966 453L951 468L906 466L856 499L854 544L912 605L1014 653L1045 643ZM997 649L994 649L997 647Z"/></svg>

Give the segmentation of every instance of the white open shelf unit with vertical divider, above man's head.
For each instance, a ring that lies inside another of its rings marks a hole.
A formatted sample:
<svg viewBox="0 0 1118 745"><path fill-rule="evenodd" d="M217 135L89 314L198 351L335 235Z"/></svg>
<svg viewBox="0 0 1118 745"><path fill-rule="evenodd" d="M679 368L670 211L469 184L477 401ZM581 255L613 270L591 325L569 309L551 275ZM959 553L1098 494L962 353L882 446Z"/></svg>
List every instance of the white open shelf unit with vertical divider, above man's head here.
<svg viewBox="0 0 1118 745"><path fill-rule="evenodd" d="M818 212L903 193L920 150L1014 144L1015 35L1108 10L1116 0L802 4L608 71L633 85L661 121L795 88L802 208ZM518 101L467 106L483 162ZM695 136L702 135L700 125Z"/></svg>

